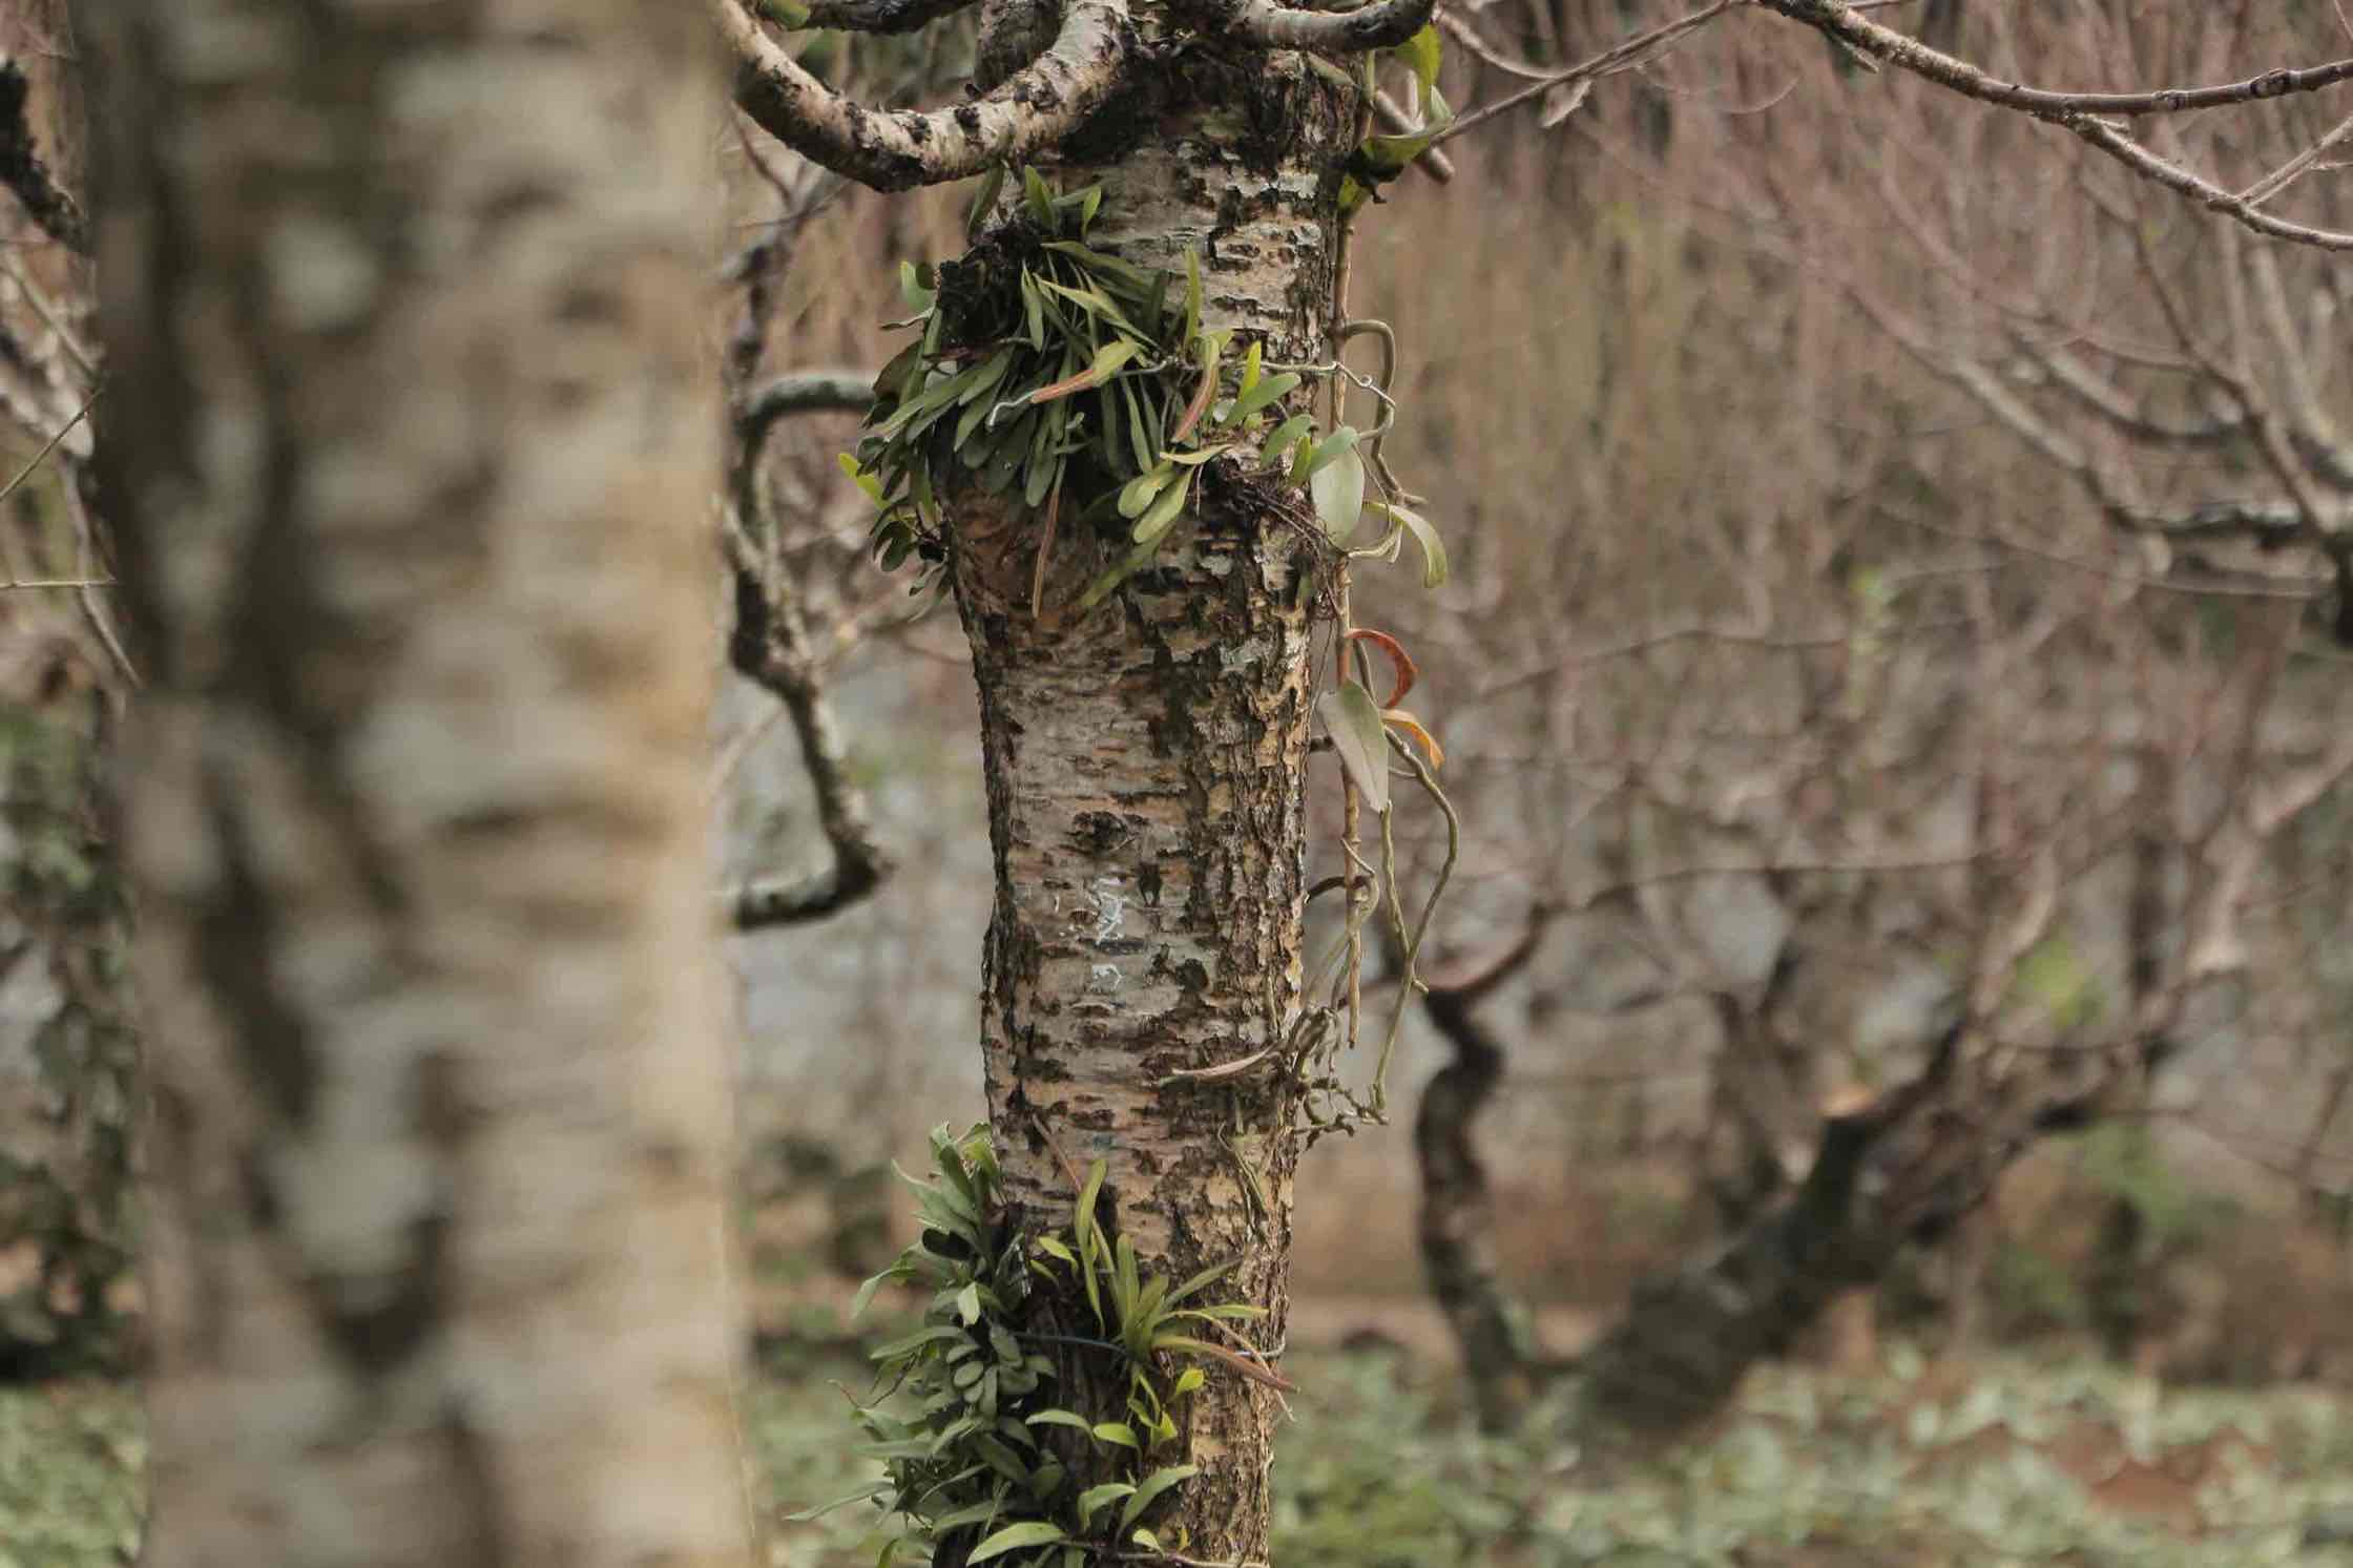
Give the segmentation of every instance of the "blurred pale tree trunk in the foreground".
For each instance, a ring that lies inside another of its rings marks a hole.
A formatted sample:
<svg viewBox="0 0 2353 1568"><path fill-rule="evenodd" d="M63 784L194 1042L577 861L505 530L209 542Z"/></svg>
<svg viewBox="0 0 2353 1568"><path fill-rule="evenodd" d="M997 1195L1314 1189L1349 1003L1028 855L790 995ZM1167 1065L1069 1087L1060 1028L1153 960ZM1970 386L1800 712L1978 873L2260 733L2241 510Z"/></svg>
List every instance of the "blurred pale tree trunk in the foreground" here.
<svg viewBox="0 0 2353 1568"><path fill-rule="evenodd" d="M744 1563L673 0L118 0L151 1561Z"/></svg>

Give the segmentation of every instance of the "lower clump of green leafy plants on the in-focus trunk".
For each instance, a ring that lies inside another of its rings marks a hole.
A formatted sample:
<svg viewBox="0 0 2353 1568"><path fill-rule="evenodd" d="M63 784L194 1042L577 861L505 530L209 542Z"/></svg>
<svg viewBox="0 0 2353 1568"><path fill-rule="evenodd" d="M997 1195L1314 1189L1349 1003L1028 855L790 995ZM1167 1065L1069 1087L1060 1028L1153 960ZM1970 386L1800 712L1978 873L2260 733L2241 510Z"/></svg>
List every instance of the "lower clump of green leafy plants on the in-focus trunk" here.
<svg viewBox="0 0 2353 1568"><path fill-rule="evenodd" d="M1101 1161L1078 1192L1068 1237L1031 1237L1005 1222L986 1126L962 1138L934 1128L932 1159L934 1180L906 1178L918 1194L922 1237L868 1279L852 1307L852 1314L864 1312L885 1281L932 1293L922 1328L873 1352L882 1399L904 1396L913 1410L885 1410L880 1399L856 1406L868 1436L864 1453L882 1460L887 1474L793 1519L875 1502L885 1516L904 1521L871 1537L878 1568L922 1561L918 1554L951 1540L967 1547L965 1563L1002 1559L1016 1568L1080 1568L1089 1556L1134 1547L1160 1552L1158 1535L1141 1521L1195 1467L1155 1465L1153 1455L1176 1439L1169 1406L1205 1382L1198 1363L1169 1375L1162 1359L1224 1361L1275 1382L1235 1352L1198 1338L1219 1324L1261 1316L1261 1309L1193 1305L1233 1265L1202 1269L1179 1286L1144 1274L1134 1244L1111 1237L1096 1220ZM1096 1335L1033 1331L1026 1307L1040 1281L1082 1295ZM1042 1387L1054 1363L1035 1349L1040 1342L1120 1361L1127 1420L1087 1420L1047 1403ZM1068 1465L1052 1446L1054 1429L1078 1434L1066 1443L1125 1453L1127 1476L1073 1490ZM1172 1547L1184 1552L1186 1542L1179 1537Z"/></svg>

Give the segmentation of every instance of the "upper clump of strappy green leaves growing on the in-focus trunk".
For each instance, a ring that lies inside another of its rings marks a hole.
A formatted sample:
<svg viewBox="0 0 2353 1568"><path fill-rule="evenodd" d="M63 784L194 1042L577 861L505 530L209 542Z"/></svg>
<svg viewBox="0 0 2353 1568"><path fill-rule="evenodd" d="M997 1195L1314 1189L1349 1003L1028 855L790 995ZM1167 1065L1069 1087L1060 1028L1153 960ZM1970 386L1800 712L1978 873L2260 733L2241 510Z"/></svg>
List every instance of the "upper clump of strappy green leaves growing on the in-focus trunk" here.
<svg viewBox="0 0 2353 1568"><path fill-rule="evenodd" d="M976 212L993 200L984 190ZM1334 541L1362 522L1360 433L1318 433L1294 411L1329 367L1271 364L1261 341L1202 327L1195 254L1176 275L1089 247L1101 200L1101 186L1056 193L1024 169L1016 223L944 268L901 263L913 315L894 324L922 336L875 376L866 435L842 456L875 501L885 569L939 559L951 468L1045 512L1049 534L1066 501L1085 524L1115 520L1129 552L1080 609L1160 552L1219 458L1311 487Z"/></svg>

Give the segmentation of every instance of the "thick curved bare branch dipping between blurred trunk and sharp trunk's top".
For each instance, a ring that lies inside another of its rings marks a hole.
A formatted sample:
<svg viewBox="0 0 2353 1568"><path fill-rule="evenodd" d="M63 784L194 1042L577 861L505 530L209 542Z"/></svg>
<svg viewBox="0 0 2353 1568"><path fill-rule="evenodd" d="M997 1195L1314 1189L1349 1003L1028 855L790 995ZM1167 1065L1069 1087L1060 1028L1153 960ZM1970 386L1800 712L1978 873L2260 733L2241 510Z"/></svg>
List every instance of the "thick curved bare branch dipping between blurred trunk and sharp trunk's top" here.
<svg viewBox="0 0 2353 1568"><path fill-rule="evenodd" d="M1059 141L1113 94L1132 54L1127 0L1073 0L1054 47L988 96L878 113L802 71L741 0L711 2L736 54L736 106L802 158L875 190L941 186Z"/></svg>

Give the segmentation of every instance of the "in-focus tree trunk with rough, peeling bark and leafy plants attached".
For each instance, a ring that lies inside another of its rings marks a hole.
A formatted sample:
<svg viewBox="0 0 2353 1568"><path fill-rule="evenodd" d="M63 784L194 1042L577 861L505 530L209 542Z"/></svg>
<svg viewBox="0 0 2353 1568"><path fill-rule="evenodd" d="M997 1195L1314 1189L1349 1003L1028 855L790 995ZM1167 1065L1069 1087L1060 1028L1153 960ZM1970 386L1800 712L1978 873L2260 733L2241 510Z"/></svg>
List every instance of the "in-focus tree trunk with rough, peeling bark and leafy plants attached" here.
<svg viewBox="0 0 2353 1568"><path fill-rule="evenodd" d="M1195 56L1172 99L1129 127L1125 158L1066 172L1066 188L1104 183L1089 244L1179 275L1193 244L1205 324L1264 334L1268 360L1320 360L1353 141L1339 96L1294 56ZM1280 1349L1297 1084L1275 1060L1214 1086L1165 1079L1282 1046L1299 1018L1313 555L1235 487L1087 616L1054 607L1127 545L1064 529L1033 616L1038 524L991 510L965 505L951 550L998 884L981 1051L1016 1222L1064 1225L1071 1166L1104 1159L1104 1220L1144 1267L1238 1262L1214 1295L1268 1307L1240 1328ZM1207 1371L1176 1410L1181 1453L1153 1455L1200 1474L1153 1523L1195 1559L1257 1561L1278 1401ZM1056 1399L1085 1410L1096 1382L1066 1356ZM1101 1479L1096 1455L1075 1458L1073 1488Z"/></svg>

